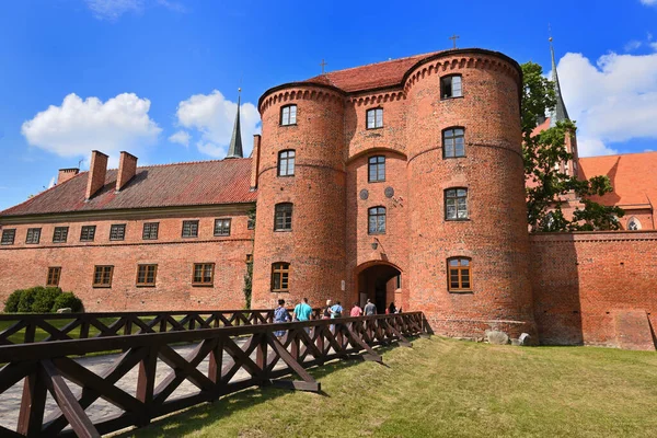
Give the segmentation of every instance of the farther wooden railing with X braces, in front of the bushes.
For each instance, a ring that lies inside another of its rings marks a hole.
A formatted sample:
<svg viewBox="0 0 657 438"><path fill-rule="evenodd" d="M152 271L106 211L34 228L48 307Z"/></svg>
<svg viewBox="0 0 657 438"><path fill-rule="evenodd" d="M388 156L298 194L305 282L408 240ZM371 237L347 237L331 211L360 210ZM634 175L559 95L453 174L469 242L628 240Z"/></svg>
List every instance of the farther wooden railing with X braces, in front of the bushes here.
<svg viewBox="0 0 657 438"><path fill-rule="evenodd" d="M320 309L313 309L319 318ZM291 314L291 309L290 309ZM270 324L274 310L0 314L0 345Z"/></svg>

